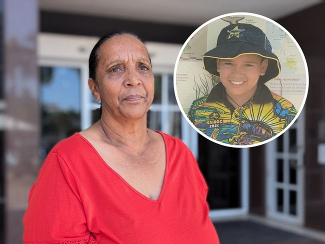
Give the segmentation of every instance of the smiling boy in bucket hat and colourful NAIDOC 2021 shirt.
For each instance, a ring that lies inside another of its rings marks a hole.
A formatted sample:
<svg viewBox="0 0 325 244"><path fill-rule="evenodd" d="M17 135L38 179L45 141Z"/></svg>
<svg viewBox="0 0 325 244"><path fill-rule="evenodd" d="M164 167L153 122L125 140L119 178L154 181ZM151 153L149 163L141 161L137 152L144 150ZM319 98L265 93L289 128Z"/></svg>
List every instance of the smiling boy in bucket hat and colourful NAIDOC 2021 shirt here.
<svg viewBox="0 0 325 244"><path fill-rule="evenodd" d="M207 136L233 145L265 141L296 115L293 104L264 84L280 72L264 32L252 24L223 28L216 47L203 55L204 68L220 77L210 93L193 101L190 121Z"/></svg>

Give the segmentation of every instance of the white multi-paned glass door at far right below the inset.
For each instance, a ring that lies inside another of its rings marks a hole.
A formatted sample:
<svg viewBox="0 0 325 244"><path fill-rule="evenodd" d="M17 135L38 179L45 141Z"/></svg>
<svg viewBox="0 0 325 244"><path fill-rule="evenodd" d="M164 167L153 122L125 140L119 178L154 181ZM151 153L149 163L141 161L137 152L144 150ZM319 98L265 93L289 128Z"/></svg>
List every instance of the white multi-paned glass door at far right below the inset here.
<svg viewBox="0 0 325 244"><path fill-rule="evenodd" d="M267 216L303 223L303 112L266 147Z"/></svg>

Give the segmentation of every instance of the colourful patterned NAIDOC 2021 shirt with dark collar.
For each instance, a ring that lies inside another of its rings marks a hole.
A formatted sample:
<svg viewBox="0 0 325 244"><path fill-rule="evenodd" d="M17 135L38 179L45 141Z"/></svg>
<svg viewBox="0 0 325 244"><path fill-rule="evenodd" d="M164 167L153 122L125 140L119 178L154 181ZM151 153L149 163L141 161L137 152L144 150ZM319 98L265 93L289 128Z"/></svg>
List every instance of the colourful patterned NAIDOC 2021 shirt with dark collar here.
<svg viewBox="0 0 325 244"><path fill-rule="evenodd" d="M255 95L234 108L222 83L210 94L193 101L189 120L207 136L227 144L248 145L265 141L282 131L297 111L293 104L258 84Z"/></svg>

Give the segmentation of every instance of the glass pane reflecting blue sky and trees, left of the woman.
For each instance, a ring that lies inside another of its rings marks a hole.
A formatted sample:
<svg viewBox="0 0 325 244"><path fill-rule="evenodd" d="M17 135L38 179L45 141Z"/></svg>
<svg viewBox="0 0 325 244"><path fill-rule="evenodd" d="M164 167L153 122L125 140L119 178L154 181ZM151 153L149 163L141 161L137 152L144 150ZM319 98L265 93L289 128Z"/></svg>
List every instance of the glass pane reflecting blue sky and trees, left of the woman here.
<svg viewBox="0 0 325 244"><path fill-rule="evenodd" d="M80 131L80 70L40 67L40 104L43 158L56 142Z"/></svg>

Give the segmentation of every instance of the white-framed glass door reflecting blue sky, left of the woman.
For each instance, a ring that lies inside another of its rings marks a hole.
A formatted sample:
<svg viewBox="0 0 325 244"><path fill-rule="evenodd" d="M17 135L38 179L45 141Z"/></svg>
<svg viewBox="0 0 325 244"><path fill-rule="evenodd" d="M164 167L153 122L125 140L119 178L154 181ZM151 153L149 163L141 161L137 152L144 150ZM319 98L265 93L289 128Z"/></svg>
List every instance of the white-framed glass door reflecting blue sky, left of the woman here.
<svg viewBox="0 0 325 244"><path fill-rule="evenodd" d="M91 92L86 62L40 58L38 68L41 166L58 141L91 124Z"/></svg>

